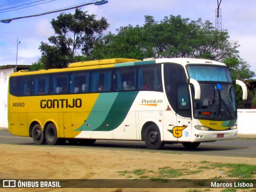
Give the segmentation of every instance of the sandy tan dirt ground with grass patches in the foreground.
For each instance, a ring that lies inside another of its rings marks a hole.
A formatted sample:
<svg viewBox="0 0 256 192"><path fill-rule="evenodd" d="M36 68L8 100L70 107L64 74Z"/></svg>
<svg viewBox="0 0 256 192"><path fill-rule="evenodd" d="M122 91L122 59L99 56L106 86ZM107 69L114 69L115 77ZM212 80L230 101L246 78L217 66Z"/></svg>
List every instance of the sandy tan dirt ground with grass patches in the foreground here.
<svg viewBox="0 0 256 192"><path fill-rule="evenodd" d="M234 179L226 168L200 168L204 162L256 164L256 158L234 158L176 154L172 151L159 153L139 150L26 146L0 144L0 178L2 179L134 179L159 178L163 168L176 169L183 174L178 179ZM200 163L201 162L201 163ZM206 164L209 165L209 164ZM136 172L137 170L137 172ZM189 188L28 188L12 189L13 192L86 191L86 192L170 192L189 191ZM198 189L221 191L220 188ZM0 188L0 191L10 189ZM191 191L191 190L190 190ZM250 192L252 189L237 190Z"/></svg>

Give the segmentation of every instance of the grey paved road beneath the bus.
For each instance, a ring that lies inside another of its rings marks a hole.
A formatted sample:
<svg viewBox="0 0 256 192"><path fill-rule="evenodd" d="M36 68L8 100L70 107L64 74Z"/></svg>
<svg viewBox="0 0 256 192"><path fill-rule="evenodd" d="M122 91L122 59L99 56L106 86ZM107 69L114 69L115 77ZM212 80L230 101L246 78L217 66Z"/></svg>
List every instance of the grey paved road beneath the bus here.
<svg viewBox="0 0 256 192"><path fill-rule="evenodd" d="M0 130L0 144L34 145L32 138L20 137L9 134L7 130ZM63 146L52 146L62 148L106 148L108 150L148 150L144 142L141 141L113 141L97 140L92 146L70 145L68 142ZM153 151L153 150L152 150ZM201 143L198 148L188 150L182 144L166 144L164 150L154 150L161 153L196 154L209 156L232 156L255 158L256 160L256 139L237 138L236 140L217 141Z"/></svg>

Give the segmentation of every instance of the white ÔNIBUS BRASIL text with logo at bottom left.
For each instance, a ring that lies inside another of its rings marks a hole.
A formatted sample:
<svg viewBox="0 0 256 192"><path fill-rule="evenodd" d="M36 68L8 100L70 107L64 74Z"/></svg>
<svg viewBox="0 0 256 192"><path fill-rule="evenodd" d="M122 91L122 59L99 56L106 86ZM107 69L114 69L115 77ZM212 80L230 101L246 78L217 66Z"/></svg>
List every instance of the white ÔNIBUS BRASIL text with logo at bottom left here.
<svg viewBox="0 0 256 192"><path fill-rule="evenodd" d="M3 180L3 187L8 188L60 188L59 181L21 181Z"/></svg>

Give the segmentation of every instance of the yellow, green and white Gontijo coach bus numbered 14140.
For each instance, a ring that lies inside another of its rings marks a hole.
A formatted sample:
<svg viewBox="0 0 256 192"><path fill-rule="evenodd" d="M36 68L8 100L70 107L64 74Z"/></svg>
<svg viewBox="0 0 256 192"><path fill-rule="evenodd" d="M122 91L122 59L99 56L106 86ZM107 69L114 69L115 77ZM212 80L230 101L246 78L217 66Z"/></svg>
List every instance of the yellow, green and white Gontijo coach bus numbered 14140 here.
<svg viewBox="0 0 256 192"><path fill-rule="evenodd" d="M247 89L243 82L243 99ZM235 139L225 64L192 58L106 59L10 75L9 132L35 144L143 140L149 149Z"/></svg>

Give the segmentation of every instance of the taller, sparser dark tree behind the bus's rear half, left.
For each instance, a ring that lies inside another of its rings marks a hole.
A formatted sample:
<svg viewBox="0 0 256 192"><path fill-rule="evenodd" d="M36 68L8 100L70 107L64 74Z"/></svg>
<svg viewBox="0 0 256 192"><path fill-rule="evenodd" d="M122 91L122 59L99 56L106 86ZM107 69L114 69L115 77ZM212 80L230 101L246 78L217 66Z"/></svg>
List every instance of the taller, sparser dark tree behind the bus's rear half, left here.
<svg viewBox="0 0 256 192"><path fill-rule="evenodd" d="M76 9L75 13L61 13L52 19L56 36L48 38L50 44L41 42L42 62L45 68L65 68L74 62L77 52L90 54L96 35L102 34L109 26L105 18L95 19L95 15Z"/></svg>

